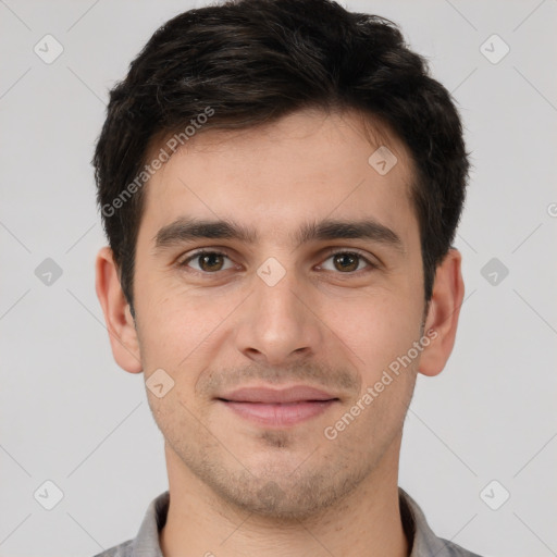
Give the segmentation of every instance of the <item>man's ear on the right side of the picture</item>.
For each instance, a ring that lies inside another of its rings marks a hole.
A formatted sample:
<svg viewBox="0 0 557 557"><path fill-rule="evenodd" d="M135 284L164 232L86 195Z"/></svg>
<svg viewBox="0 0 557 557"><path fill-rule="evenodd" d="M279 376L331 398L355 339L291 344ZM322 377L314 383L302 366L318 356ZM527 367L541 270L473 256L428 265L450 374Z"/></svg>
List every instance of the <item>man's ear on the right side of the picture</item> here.
<svg viewBox="0 0 557 557"><path fill-rule="evenodd" d="M465 297L461 260L460 251L450 248L435 273L424 330L431 343L422 351L419 368L420 373L424 375L433 376L441 373L453 351L458 315Z"/></svg>

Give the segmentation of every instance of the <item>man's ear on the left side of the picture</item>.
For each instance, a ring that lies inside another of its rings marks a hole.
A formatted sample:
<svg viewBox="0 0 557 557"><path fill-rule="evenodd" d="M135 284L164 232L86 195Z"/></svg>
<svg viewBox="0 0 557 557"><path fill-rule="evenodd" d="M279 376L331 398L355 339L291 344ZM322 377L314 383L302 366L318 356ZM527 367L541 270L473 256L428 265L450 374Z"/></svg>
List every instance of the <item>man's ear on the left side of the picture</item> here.
<svg viewBox="0 0 557 557"><path fill-rule="evenodd" d="M125 371L139 373L143 366L137 331L109 247L100 249L95 267L97 296L104 313L114 360Z"/></svg>

